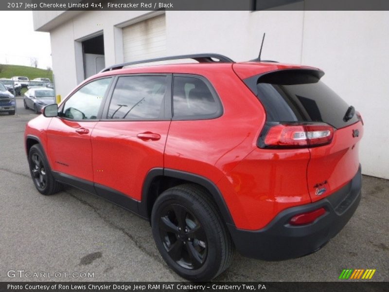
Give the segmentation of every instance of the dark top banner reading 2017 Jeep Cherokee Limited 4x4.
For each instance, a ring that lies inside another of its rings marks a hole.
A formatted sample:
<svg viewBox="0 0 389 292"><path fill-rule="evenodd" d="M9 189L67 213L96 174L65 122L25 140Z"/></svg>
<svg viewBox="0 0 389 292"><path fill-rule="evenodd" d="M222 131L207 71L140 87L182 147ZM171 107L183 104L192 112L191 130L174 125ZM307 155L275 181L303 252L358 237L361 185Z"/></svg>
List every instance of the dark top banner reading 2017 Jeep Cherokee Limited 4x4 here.
<svg viewBox="0 0 389 292"><path fill-rule="evenodd" d="M386 11L389 0L4 0L0 10Z"/></svg>

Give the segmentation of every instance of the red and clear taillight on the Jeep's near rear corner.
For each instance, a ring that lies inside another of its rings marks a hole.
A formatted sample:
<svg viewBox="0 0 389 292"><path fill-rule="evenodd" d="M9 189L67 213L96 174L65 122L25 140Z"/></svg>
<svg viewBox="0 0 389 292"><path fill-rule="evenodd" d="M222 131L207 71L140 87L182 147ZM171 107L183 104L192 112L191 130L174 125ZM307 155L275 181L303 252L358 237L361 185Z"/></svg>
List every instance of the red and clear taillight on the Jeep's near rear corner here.
<svg viewBox="0 0 389 292"><path fill-rule="evenodd" d="M294 148L330 144L334 128L328 124L276 124L266 133L265 147Z"/></svg>

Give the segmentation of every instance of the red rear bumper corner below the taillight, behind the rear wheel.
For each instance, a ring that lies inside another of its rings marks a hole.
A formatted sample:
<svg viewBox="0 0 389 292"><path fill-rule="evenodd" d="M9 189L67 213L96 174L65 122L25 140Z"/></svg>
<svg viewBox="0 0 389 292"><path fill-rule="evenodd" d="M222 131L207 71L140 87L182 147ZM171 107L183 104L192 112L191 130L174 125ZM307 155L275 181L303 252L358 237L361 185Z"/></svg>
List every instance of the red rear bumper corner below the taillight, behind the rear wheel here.
<svg viewBox="0 0 389 292"><path fill-rule="evenodd" d="M311 202L308 149L253 150L219 183L237 228L258 230L286 208Z"/></svg>

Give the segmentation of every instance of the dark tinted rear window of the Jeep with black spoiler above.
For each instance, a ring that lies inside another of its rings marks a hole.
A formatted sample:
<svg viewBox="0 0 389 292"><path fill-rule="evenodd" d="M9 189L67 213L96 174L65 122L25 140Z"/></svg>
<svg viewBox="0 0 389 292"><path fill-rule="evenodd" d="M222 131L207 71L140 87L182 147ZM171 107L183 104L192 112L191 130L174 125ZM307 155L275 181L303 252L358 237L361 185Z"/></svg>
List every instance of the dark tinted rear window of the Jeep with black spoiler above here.
<svg viewBox="0 0 389 292"><path fill-rule="evenodd" d="M257 80L258 98L268 122L324 122L343 128L358 121L343 118L349 105L319 80L311 70L285 70L262 75Z"/></svg>

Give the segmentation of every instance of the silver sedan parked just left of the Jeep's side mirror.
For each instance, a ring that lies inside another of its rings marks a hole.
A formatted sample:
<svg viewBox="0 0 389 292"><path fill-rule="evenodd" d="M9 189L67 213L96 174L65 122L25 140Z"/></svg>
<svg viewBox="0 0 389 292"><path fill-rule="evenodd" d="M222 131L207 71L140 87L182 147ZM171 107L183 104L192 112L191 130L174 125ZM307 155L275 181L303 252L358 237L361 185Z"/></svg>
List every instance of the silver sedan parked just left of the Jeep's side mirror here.
<svg viewBox="0 0 389 292"><path fill-rule="evenodd" d="M48 88L31 88L24 93L24 108L40 113L42 109L54 102L54 91Z"/></svg>

